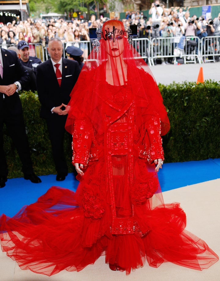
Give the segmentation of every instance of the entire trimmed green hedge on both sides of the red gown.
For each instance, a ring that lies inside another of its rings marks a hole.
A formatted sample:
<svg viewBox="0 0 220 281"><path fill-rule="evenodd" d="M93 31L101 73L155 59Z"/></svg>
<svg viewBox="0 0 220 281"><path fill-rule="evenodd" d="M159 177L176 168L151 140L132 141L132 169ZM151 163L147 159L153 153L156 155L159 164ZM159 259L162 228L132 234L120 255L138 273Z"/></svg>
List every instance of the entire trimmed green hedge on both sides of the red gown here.
<svg viewBox="0 0 220 281"><path fill-rule="evenodd" d="M214 81L204 84L159 84L167 107L171 129L163 137L166 162L183 162L220 157L220 86ZM31 157L36 174L56 174L46 122L39 117L36 93L20 95ZM22 177L21 163L7 130L4 128L5 152L9 178ZM71 135L66 133L65 154L71 171Z"/></svg>

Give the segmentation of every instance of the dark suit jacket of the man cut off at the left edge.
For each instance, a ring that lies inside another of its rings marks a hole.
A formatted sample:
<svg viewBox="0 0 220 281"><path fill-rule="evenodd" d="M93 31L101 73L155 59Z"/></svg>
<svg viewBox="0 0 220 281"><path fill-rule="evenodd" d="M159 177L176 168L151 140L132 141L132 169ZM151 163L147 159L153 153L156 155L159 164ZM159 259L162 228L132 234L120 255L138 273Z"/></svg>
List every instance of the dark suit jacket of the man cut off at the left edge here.
<svg viewBox="0 0 220 281"><path fill-rule="evenodd" d="M21 89L29 82L30 77L28 71L24 69L20 63L17 54L14 51L9 51L1 48L3 77L0 75L0 84L9 85L18 81L21 84ZM7 112L12 115L22 113L20 97L17 92L12 96L5 96L4 107L7 107ZM0 93L0 113L3 106L3 93Z"/></svg>

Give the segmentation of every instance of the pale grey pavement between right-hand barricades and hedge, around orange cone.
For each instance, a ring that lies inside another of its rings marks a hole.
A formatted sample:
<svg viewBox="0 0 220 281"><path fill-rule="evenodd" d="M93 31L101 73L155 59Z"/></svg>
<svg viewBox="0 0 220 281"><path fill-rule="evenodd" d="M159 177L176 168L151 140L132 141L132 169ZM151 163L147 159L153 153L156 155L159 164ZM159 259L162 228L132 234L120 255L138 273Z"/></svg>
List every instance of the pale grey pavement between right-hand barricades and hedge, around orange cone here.
<svg viewBox="0 0 220 281"><path fill-rule="evenodd" d="M220 81L219 67L220 62L208 63L187 63L182 65L167 64L162 66L157 64L151 67L153 76L157 84L171 84L173 82L180 83L183 81L197 81L200 67L203 68L204 80Z"/></svg>

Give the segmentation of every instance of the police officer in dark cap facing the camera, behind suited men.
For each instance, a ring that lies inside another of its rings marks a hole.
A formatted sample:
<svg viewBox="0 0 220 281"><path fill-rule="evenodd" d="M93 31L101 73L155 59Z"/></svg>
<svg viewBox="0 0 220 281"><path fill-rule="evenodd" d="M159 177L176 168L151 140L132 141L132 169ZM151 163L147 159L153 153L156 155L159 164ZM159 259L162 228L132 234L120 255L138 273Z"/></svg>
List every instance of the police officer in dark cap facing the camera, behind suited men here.
<svg viewBox="0 0 220 281"><path fill-rule="evenodd" d="M29 68L34 70L35 75L37 74L37 66L42 63L42 61L37 57L29 56L29 45L26 41L21 40L17 44L18 51L20 53L20 62Z"/></svg>

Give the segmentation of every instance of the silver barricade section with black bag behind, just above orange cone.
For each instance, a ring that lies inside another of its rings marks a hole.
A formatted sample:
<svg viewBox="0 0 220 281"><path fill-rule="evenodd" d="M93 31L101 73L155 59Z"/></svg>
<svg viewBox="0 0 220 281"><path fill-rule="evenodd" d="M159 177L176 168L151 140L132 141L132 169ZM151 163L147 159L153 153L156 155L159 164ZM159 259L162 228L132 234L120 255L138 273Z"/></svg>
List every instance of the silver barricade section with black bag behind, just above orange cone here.
<svg viewBox="0 0 220 281"><path fill-rule="evenodd" d="M191 42L192 41L192 42ZM184 63L196 63L201 64L200 55L200 38L197 36L186 36L185 47L183 54Z"/></svg>

